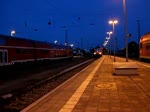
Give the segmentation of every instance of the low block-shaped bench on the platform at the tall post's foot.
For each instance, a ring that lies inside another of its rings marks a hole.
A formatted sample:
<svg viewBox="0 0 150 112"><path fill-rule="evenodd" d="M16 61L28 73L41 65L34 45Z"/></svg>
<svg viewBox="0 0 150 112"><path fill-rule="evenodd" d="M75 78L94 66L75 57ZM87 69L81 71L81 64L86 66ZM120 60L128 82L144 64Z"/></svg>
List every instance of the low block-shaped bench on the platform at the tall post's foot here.
<svg viewBox="0 0 150 112"><path fill-rule="evenodd" d="M135 75L137 73L136 62L114 62L113 63L115 75Z"/></svg>

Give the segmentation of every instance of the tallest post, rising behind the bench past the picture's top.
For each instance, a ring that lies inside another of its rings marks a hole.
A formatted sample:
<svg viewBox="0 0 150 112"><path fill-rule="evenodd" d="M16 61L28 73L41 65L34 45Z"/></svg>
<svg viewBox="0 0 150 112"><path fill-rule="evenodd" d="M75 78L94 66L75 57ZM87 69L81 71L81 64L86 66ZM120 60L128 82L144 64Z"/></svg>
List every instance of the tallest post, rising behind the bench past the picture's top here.
<svg viewBox="0 0 150 112"><path fill-rule="evenodd" d="M126 23L126 0L123 0L123 12L124 12L124 37L126 40L126 62L128 62L128 37L127 37L127 23Z"/></svg>

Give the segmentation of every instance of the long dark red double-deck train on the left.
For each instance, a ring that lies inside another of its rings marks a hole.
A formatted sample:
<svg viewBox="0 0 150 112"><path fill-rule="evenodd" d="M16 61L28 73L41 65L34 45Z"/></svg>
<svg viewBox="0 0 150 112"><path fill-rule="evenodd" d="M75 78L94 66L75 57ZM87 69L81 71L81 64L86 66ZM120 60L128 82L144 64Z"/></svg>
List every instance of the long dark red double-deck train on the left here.
<svg viewBox="0 0 150 112"><path fill-rule="evenodd" d="M0 66L72 57L70 46L0 35Z"/></svg>

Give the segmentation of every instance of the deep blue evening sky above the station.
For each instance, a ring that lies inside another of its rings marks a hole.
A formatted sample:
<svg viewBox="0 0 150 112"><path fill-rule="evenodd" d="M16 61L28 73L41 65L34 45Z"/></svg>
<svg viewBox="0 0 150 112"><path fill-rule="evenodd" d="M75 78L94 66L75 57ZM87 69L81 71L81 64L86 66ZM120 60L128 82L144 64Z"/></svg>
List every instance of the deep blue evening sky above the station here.
<svg viewBox="0 0 150 112"><path fill-rule="evenodd" d="M0 0L0 34L63 44L65 30L68 43L76 47L102 46L106 32L112 30L108 24L117 19L115 25L117 47L124 47L123 0ZM150 0L126 0L127 30L132 34L129 41L138 41L140 20L141 35L150 31ZM51 25L48 22L51 22ZM94 25L91 25L94 24ZM63 28L66 26L66 28ZM34 31L37 29L37 31Z"/></svg>

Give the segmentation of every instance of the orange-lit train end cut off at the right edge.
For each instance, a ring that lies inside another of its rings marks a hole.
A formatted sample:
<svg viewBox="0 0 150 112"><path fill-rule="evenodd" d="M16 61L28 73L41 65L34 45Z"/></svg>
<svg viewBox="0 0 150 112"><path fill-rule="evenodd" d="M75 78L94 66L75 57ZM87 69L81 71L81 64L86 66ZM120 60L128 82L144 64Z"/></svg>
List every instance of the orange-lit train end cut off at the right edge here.
<svg viewBox="0 0 150 112"><path fill-rule="evenodd" d="M150 59L150 32L140 39L140 59Z"/></svg>

